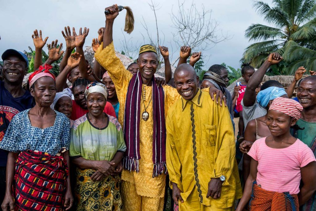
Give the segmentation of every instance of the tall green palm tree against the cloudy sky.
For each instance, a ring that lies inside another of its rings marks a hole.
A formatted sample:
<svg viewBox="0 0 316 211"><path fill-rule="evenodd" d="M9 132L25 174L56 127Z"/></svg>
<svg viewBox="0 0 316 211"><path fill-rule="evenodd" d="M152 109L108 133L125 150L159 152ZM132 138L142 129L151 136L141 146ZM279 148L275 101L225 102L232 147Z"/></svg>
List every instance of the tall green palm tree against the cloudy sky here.
<svg viewBox="0 0 316 211"><path fill-rule="evenodd" d="M245 49L244 62L260 66L271 52L279 52L284 61L280 74L293 74L299 66L316 69L315 0L273 0L273 6L257 1L254 8L271 26L252 24L246 29L249 41L258 41Z"/></svg>

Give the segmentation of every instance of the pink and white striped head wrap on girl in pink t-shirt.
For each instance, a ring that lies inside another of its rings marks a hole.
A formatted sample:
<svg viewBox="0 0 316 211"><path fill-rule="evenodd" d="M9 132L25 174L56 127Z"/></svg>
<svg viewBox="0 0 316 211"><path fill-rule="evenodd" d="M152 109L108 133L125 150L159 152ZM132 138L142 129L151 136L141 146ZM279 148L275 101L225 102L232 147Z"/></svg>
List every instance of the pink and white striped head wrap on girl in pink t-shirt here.
<svg viewBox="0 0 316 211"><path fill-rule="evenodd" d="M298 120L301 118L303 107L299 102L293 99L277 97L271 103L269 111L270 110L280 111Z"/></svg>

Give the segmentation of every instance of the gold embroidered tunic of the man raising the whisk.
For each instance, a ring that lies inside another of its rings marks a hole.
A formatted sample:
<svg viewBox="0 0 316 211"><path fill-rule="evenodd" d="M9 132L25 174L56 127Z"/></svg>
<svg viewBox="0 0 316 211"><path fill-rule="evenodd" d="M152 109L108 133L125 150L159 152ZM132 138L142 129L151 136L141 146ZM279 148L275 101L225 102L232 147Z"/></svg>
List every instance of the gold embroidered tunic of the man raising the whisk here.
<svg viewBox="0 0 316 211"><path fill-rule="evenodd" d="M100 45L97 52L94 54L95 59L103 66L109 73L115 85L116 93L120 103L119 107L119 123L123 126L125 99L127 88L132 78L132 74L125 69L122 62L117 58L114 51L113 42L103 49L103 43ZM140 110L141 115L145 111L144 104L148 108L149 119L144 121L140 118L139 125L139 150L141 159L139 159L139 173L129 172L123 170L121 179L135 184L138 195L147 197L164 197L165 189L165 175L159 175L152 178L154 164L152 160L153 149L153 104L150 101L152 96L152 87L143 84L142 90L145 88L146 98L141 98ZM171 86L164 86L165 96L165 116L167 115L170 106L179 99L179 94L176 89ZM150 101L150 102L149 102Z"/></svg>

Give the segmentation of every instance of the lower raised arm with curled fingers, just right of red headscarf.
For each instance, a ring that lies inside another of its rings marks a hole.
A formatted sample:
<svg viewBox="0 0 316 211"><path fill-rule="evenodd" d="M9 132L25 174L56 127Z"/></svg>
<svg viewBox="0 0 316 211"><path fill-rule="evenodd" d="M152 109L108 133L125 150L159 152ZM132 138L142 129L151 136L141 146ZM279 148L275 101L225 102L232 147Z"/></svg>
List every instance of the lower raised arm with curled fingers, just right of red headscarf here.
<svg viewBox="0 0 316 211"><path fill-rule="evenodd" d="M79 53L73 53L70 55L67 61L67 65L64 67L64 70L56 78L56 91L60 92L63 90L66 82L68 73L75 67L79 65L82 56Z"/></svg>

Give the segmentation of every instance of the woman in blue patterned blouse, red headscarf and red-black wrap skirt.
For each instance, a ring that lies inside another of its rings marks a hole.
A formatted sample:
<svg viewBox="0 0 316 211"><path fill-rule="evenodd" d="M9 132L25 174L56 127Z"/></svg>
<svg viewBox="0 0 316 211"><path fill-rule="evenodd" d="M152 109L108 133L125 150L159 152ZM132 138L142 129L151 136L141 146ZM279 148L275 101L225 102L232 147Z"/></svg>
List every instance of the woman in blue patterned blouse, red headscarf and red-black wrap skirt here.
<svg viewBox="0 0 316 211"><path fill-rule="evenodd" d="M80 59L74 59L76 66ZM69 60L68 60L69 62ZM69 64L69 63L68 63ZM55 78L45 69L29 78L35 106L12 119L0 148L9 151L3 210L68 210L70 121L51 109Z"/></svg>

